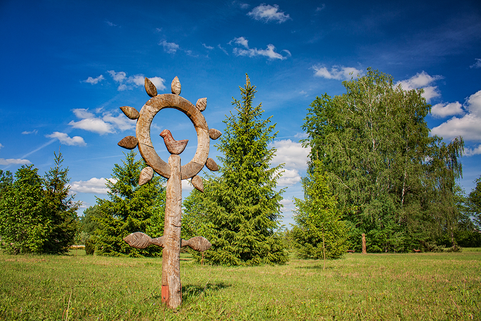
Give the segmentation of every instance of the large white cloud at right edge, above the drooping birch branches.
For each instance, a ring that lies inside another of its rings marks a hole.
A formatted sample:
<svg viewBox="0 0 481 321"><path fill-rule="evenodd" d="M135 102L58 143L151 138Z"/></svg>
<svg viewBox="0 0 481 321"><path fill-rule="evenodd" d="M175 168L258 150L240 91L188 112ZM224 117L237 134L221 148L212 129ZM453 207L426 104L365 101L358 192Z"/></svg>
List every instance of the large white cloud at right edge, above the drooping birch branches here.
<svg viewBox="0 0 481 321"><path fill-rule="evenodd" d="M481 90L469 96L463 107L466 112L462 117L452 117L431 133L448 140L461 135L465 141L481 142Z"/></svg>

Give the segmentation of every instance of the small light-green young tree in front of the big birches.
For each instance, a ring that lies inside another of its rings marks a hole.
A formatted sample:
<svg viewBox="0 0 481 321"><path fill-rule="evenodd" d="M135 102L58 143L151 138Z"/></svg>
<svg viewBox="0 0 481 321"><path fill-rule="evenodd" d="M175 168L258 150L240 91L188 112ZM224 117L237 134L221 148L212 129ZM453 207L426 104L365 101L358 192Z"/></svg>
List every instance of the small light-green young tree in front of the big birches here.
<svg viewBox="0 0 481 321"><path fill-rule="evenodd" d="M294 247L301 258L337 259L349 246L347 225L341 220L321 162L314 160L312 165L308 179L303 179L306 199L294 198Z"/></svg>

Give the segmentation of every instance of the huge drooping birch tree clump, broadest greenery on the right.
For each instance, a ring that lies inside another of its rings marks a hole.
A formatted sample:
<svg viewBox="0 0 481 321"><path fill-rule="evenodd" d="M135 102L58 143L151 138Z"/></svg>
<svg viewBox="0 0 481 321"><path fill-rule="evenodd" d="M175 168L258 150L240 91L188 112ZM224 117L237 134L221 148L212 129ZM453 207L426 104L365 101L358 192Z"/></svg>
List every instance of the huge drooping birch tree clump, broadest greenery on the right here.
<svg viewBox="0 0 481 321"><path fill-rule="evenodd" d="M303 143L309 170L322 161L356 249L362 232L370 251L411 251L443 234L455 241L463 139L429 137L423 91L395 87L390 75L369 68L343 84L346 93L310 105Z"/></svg>

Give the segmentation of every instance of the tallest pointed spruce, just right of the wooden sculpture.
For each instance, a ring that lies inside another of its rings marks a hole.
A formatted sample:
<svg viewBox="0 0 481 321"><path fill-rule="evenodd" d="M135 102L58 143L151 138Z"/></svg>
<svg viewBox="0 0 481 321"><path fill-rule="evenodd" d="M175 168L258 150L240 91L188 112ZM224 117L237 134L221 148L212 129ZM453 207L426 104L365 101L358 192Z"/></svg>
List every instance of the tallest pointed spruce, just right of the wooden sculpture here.
<svg viewBox="0 0 481 321"><path fill-rule="evenodd" d="M234 99L237 114L224 120L226 129L217 146L220 177L210 177L204 194L194 190L184 203L187 213L201 225L212 247L204 253L204 262L213 265L283 264L288 260L277 232L281 192L276 192L277 172L270 168L275 149L268 143L275 138L271 117L262 119L262 105L253 107L256 92L246 75L240 87L241 101ZM200 260L200 254L195 254Z"/></svg>

